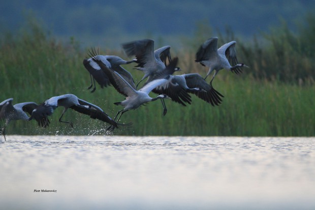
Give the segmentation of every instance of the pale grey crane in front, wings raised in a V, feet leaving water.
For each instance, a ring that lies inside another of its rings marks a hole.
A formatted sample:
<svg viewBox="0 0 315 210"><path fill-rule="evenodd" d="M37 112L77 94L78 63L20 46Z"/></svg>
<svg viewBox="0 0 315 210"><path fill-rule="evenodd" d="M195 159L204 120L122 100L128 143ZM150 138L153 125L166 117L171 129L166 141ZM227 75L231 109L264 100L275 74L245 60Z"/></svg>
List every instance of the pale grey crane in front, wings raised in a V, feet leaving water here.
<svg viewBox="0 0 315 210"><path fill-rule="evenodd" d="M164 75L161 78L156 78L151 82L146 83L140 90L134 89L118 72L114 71L113 69L108 68L104 65L101 59L98 59L98 56L93 56L93 60L95 60L107 74L110 82L112 83L113 87L123 96L125 96L125 100L121 102L114 103L115 105L121 105L124 108L117 112L114 120L119 115L117 122L119 121L121 115L129 110L137 109L141 105L155 101L157 99L165 99L169 98L165 94L161 94L155 98L151 98L148 94L157 86L162 85L163 82L167 81L167 78L164 78ZM174 71L175 66L177 64L177 58L174 58L170 64L166 67L170 71ZM112 131L114 128L110 126L108 131Z"/></svg>

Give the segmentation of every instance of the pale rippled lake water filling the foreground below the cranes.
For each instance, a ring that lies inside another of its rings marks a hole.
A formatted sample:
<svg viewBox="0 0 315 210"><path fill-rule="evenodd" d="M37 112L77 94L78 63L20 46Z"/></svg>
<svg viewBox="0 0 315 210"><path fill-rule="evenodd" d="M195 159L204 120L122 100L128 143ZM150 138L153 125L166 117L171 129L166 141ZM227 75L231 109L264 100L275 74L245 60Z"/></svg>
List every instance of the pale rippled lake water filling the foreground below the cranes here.
<svg viewBox="0 0 315 210"><path fill-rule="evenodd" d="M315 138L1 138L1 209L315 209Z"/></svg>

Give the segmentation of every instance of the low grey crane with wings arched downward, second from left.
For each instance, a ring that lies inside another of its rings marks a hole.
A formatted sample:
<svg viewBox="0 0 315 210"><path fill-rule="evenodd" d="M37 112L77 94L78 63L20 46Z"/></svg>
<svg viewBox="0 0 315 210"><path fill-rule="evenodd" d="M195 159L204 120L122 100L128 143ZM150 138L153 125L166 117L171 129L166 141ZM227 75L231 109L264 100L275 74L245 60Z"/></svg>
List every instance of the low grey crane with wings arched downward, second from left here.
<svg viewBox="0 0 315 210"><path fill-rule="evenodd" d="M91 104L87 101L84 101L82 99L79 99L77 96L73 94L54 96L54 97L51 97L50 99L47 99L45 102L43 102L36 109L33 110L28 120L31 120L33 118L38 120L41 117L48 117L59 106L64 107L64 111L62 111L62 114L59 118L59 122L69 123L72 128L73 128L72 122L61 120L62 116L64 116L68 108L71 108L82 114L89 115L92 119L99 119L104 122L110 123L113 127L118 128L118 124L115 122L115 120L110 118L100 107L98 107L97 105ZM119 124L119 125L126 125L126 124Z"/></svg>

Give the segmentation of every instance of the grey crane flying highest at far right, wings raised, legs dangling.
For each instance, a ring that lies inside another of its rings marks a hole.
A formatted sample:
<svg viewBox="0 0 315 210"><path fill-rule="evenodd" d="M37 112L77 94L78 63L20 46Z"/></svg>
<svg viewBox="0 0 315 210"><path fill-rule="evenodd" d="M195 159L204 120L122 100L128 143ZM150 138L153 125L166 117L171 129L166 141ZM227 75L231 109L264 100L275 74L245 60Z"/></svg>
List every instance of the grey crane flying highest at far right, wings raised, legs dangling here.
<svg viewBox="0 0 315 210"><path fill-rule="evenodd" d="M248 67L243 63L238 63L236 57L235 44L236 41L230 41L224 44L222 47L217 49L217 37L212 37L207 39L198 49L196 53L196 62L199 62L203 66L209 67L209 71L205 77L214 70L213 77L210 81L214 79L215 75L220 69L227 69L236 74L242 72L242 67ZM231 66L230 62L233 66Z"/></svg>

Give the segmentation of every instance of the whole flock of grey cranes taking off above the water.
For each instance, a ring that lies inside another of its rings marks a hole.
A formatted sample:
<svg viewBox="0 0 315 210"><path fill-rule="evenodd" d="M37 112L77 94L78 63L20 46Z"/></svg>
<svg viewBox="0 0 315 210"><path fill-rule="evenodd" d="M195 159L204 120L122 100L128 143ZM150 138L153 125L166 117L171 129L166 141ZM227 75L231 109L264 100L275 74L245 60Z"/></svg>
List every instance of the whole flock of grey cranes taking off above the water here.
<svg viewBox="0 0 315 210"><path fill-rule="evenodd" d="M99 55L98 50L92 48L87 53L89 58L83 60L83 65L89 72L91 80L87 89L91 89L91 93L96 91L95 81L97 81L101 88L112 86L125 97L125 100L114 103L123 107L114 118L111 118L99 106L84 101L73 94L54 96L40 104L24 102L13 105L13 98L10 98L0 103L0 120L5 121L1 127L2 135L6 140L5 131L12 120L30 121L35 119L39 127L46 128L50 124L48 116L52 115L54 110L60 106L64 107L64 111L59 117L59 122L68 123L74 128L72 122L62 120L65 112L71 108L79 113L89 115L93 119L99 119L110 124L106 129L107 133L112 133L115 128L120 126L132 124L132 122L119 123L123 113L159 99L163 105L163 115L167 113L164 99L170 99L186 106L192 102L190 94L195 94L212 106L218 106L222 103L224 96L212 86L215 75L221 69L239 74L242 72L242 67L247 66L237 61L236 41L231 41L217 48L217 40L217 37L211 37L197 50L195 62L209 68L204 78L199 73L174 75L174 72L181 71L181 68L177 67L178 57L171 58L170 46L154 50L154 40L152 39L123 43L122 49L125 54L128 57L134 57L128 61L118 56ZM132 74L121 66L131 63L135 63L135 69L143 72L143 77L137 84ZM210 82L207 82L206 78L212 71L214 71L213 76ZM144 84L138 89L141 82ZM157 96L150 97L150 92L157 94Z"/></svg>

